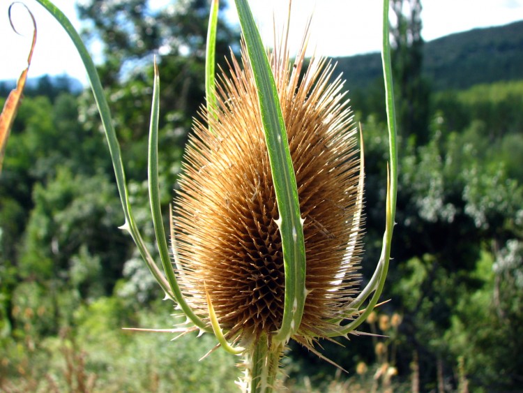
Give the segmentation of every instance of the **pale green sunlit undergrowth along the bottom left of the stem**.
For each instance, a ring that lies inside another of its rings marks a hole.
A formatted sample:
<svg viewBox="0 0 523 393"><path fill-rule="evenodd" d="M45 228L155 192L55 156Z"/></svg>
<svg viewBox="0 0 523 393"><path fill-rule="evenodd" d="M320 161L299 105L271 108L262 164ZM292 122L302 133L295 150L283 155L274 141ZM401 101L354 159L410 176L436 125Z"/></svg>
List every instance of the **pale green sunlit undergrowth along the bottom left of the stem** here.
<svg viewBox="0 0 523 393"><path fill-rule="evenodd" d="M166 345L169 333L121 330L172 326L176 318L165 306L138 315L122 299L100 297L77 311L75 329L32 342L6 341L0 388L79 391L83 383L93 387L88 391L102 392L235 392L234 357L214 351L199 361L214 346L210 338L183 336ZM26 325L37 319L26 318Z"/></svg>

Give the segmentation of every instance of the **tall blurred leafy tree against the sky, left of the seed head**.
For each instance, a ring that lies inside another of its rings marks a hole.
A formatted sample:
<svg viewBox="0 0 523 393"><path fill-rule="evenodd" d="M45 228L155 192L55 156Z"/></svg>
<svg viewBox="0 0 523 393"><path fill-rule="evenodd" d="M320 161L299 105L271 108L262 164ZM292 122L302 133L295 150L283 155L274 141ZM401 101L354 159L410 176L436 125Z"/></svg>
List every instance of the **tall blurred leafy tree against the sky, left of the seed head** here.
<svg viewBox="0 0 523 393"><path fill-rule="evenodd" d="M204 104L209 9L208 0L179 0L160 10L147 0L89 0L79 5L80 17L92 22L84 36L103 43L104 63L99 69L130 179L145 175L156 54L161 80L160 169L171 174L165 179L169 188L176 181L192 119ZM219 20L218 64L229 54L230 43L237 41L238 34ZM96 126L98 114L90 96L87 105L84 119L89 127Z"/></svg>

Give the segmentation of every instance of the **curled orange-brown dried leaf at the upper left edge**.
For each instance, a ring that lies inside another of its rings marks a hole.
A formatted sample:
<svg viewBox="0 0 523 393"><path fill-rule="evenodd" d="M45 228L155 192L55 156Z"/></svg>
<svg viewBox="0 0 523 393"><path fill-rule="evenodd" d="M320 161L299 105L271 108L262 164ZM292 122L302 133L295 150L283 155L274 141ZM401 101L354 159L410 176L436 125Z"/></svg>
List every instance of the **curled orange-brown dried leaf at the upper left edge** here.
<svg viewBox="0 0 523 393"><path fill-rule="evenodd" d="M11 8L13 7L13 4L9 6L9 21L13 30L17 32L13 26L13 21L11 20ZM31 43L29 57L27 57L27 68L22 71L22 74L18 78L16 89L11 90L6 103L3 105L2 113L0 114L0 172L2 170L3 156L6 151L6 144L9 138L9 133L11 131L11 127L13 126L13 122L15 121L18 107L20 107L20 104L22 103L22 93L24 91L27 72L29 71L29 66L31 65L31 58L33 57L33 50L36 44L36 21L29 8L26 6L24 7L26 8L27 12L29 12L29 15L31 15L31 20L33 20L33 42Z"/></svg>

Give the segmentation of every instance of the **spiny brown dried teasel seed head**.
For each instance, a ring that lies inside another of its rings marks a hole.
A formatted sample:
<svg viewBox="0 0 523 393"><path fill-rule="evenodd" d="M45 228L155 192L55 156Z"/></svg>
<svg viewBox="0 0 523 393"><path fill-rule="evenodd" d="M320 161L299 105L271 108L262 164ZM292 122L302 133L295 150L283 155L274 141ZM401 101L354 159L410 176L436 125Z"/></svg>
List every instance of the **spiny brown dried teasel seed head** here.
<svg viewBox="0 0 523 393"><path fill-rule="evenodd" d="M361 253L361 199L356 128L333 66L312 59L305 40L294 65L286 44L270 56L305 218L308 296L298 334L323 336L354 295ZM196 122L175 201L181 288L206 318L204 283L229 338L271 336L283 316L285 272L278 206L245 50L219 78L216 119ZM207 119L207 114L204 114ZM305 290L305 288L304 288Z"/></svg>

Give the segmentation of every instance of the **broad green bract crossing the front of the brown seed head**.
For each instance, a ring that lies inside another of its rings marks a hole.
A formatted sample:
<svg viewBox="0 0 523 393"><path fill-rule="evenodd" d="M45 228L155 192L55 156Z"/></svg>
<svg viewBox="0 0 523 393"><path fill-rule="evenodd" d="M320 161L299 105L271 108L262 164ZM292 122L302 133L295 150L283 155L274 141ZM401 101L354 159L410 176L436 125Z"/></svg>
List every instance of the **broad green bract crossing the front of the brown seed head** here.
<svg viewBox="0 0 523 393"><path fill-rule="evenodd" d="M296 333L305 305L305 242L298 187L291 161L278 90L264 45L246 0L236 0L243 37L255 77L261 121L278 202L278 228L285 267L285 305L282 325L273 339L285 342Z"/></svg>

